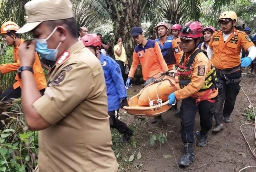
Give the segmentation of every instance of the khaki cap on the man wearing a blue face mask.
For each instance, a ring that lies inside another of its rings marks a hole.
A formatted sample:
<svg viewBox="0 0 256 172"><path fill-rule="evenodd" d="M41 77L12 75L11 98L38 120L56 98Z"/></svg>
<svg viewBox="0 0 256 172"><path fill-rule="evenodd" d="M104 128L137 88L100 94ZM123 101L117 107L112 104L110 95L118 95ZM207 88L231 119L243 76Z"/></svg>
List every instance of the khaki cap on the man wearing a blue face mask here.
<svg viewBox="0 0 256 172"><path fill-rule="evenodd" d="M43 21L69 19L73 17L70 0L32 0L25 4L27 24L16 33L29 32Z"/></svg>

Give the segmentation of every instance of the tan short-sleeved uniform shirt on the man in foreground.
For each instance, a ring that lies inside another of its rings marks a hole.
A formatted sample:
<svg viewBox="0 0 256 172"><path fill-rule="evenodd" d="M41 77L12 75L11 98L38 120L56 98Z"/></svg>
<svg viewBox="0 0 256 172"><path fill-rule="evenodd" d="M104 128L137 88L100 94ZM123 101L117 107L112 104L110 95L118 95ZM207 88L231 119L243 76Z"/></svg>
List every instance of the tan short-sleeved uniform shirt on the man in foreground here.
<svg viewBox="0 0 256 172"><path fill-rule="evenodd" d="M56 61L33 107L52 124L39 131L40 172L117 171L103 69L81 41Z"/></svg>

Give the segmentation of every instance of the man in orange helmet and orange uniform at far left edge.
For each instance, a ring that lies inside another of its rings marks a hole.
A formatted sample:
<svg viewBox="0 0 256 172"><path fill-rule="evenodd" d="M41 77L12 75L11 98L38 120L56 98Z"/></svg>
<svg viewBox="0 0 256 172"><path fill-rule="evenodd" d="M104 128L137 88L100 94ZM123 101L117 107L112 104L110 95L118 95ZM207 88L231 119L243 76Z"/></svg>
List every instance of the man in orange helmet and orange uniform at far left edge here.
<svg viewBox="0 0 256 172"><path fill-rule="evenodd" d="M3 36L3 40L6 42L8 46L14 46L13 49L13 60L14 63L9 64L2 64L0 65L0 71L2 74L17 71L17 69L20 67L20 58L18 56L18 49L21 43L24 42L22 38L20 38L19 34L16 34L16 31L20 27L14 23L14 22L5 22L1 27L1 35ZM45 91L45 87L47 86L45 75L39 60L38 55L35 52L35 62L33 65L33 73L34 78L36 81L36 85L38 90L40 90L40 93L43 95ZM0 99L16 99L21 96L21 78L18 76L18 74L15 76L16 82L13 84L12 87L7 88L2 95L0 96Z"/></svg>

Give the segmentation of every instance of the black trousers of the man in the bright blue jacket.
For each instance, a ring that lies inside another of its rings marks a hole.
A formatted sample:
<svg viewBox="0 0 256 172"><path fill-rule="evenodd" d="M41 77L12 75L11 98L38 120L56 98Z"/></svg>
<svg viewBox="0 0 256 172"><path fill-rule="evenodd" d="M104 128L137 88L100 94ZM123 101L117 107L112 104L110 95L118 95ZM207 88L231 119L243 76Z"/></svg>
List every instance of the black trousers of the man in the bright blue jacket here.
<svg viewBox="0 0 256 172"><path fill-rule="evenodd" d="M117 114L117 115L116 115ZM110 127L117 129L118 132L125 136L130 136L132 134L132 131L129 129L129 127L119 119L118 117L118 110L116 111L109 111L108 115L110 116L109 122L110 122Z"/></svg>

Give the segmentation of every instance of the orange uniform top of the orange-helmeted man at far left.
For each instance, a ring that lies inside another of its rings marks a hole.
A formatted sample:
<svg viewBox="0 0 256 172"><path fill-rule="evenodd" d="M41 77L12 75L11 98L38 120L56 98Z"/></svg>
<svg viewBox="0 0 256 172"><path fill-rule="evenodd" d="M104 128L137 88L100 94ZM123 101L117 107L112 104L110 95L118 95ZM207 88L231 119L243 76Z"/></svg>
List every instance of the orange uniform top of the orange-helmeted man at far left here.
<svg viewBox="0 0 256 172"><path fill-rule="evenodd" d="M19 49L20 44L23 42L24 42L24 40L20 39L18 46L14 47L14 49L13 49L14 63L0 65L0 71L2 74L17 71L17 69L20 67L20 58L18 56L18 49ZM34 78L35 78L38 90L42 90L47 86L47 83L46 83L45 75L44 75L44 72L43 72L43 69L42 69L42 66L40 63L40 59L39 59L38 55L36 54L36 52L35 52L35 59L36 60L33 65ZM15 80L17 80L17 82L15 82L13 84L13 88L14 89L16 89L18 87L22 88L21 79L19 78L18 74L15 76Z"/></svg>

